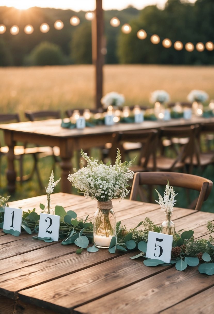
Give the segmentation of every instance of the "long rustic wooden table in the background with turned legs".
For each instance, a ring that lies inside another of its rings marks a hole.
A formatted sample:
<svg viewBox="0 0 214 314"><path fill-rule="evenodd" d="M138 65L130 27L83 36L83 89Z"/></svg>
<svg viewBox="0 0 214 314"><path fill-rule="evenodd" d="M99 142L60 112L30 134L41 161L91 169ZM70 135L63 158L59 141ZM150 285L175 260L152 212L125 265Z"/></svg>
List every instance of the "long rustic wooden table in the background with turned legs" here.
<svg viewBox="0 0 214 314"><path fill-rule="evenodd" d="M13 148L16 142L39 143L40 145L58 146L61 157L61 191L71 192L67 184L69 171L72 170L71 158L75 150L90 149L111 142L112 134L119 131L159 128L163 126L184 126L196 123L214 122L214 118L193 117L191 120L171 119L170 121L144 121L142 123L119 123L113 126L86 127L84 129L66 129L61 127L61 119L34 122L1 124L4 131L8 152L8 191L15 191L16 174L14 170Z"/></svg>

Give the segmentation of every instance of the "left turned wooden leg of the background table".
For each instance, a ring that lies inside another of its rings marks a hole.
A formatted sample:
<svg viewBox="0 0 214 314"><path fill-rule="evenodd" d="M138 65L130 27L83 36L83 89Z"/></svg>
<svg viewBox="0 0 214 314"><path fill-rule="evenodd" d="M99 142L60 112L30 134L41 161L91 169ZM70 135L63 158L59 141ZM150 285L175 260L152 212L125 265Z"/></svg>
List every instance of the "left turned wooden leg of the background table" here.
<svg viewBox="0 0 214 314"><path fill-rule="evenodd" d="M16 182L16 172L14 167L14 143L10 144L8 151L8 170L7 170L7 179L8 179L8 191L10 193L15 192L15 182Z"/></svg>

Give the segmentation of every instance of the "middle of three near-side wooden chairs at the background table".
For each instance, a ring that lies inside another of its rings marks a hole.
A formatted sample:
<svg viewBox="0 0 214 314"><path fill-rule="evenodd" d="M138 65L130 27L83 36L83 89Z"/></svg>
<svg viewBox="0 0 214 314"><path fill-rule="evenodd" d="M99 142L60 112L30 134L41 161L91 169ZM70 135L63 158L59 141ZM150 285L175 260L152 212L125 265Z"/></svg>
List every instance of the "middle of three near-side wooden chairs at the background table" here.
<svg viewBox="0 0 214 314"><path fill-rule="evenodd" d="M159 129L159 152L156 156L156 168L154 169L153 160L149 159L147 168L155 171L185 171L186 159L190 160L189 171L192 171L192 158L194 154L195 143L195 130L199 126L187 126L187 127L161 127ZM169 148L170 151L162 149L163 140L172 140L172 138L185 138L184 144L177 145L172 141L172 145ZM158 149L157 149L158 151ZM171 156L167 153L171 153Z"/></svg>

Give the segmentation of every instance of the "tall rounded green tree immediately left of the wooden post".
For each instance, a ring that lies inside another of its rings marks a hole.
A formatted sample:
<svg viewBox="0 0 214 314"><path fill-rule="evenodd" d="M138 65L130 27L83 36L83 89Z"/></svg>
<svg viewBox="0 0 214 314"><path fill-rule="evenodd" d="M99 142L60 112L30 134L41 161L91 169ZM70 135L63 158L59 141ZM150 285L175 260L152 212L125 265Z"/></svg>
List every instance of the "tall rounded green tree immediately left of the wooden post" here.
<svg viewBox="0 0 214 314"><path fill-rule="evenodd" d="M74 63L92 63L91 23L80 25L72 35L71 59Z"/></svg>

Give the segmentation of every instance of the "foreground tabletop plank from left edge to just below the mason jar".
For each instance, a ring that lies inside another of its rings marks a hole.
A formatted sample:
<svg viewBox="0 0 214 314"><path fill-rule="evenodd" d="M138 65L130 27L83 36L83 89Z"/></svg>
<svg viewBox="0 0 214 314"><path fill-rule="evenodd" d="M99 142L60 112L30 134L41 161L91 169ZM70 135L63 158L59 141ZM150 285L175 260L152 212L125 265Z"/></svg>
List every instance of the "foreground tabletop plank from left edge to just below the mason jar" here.
<svg viewBox="0 0 214 314"><path fill-rule="evenodd" d="M109 252L106 254L107 252L105 250L99 250L99 252L95 254L85 251L80 256L75 253L78 247L75 245L71 247L73 254L52 258L45 262L1 275L0 294L11 299L16 299L19 290L27 289L57 278L61 278L60 281L63 281L62 277L68 274L76 273L77 271L97 264L100 265L122 254L119 251L115 254L110 254Z"/></svg>

